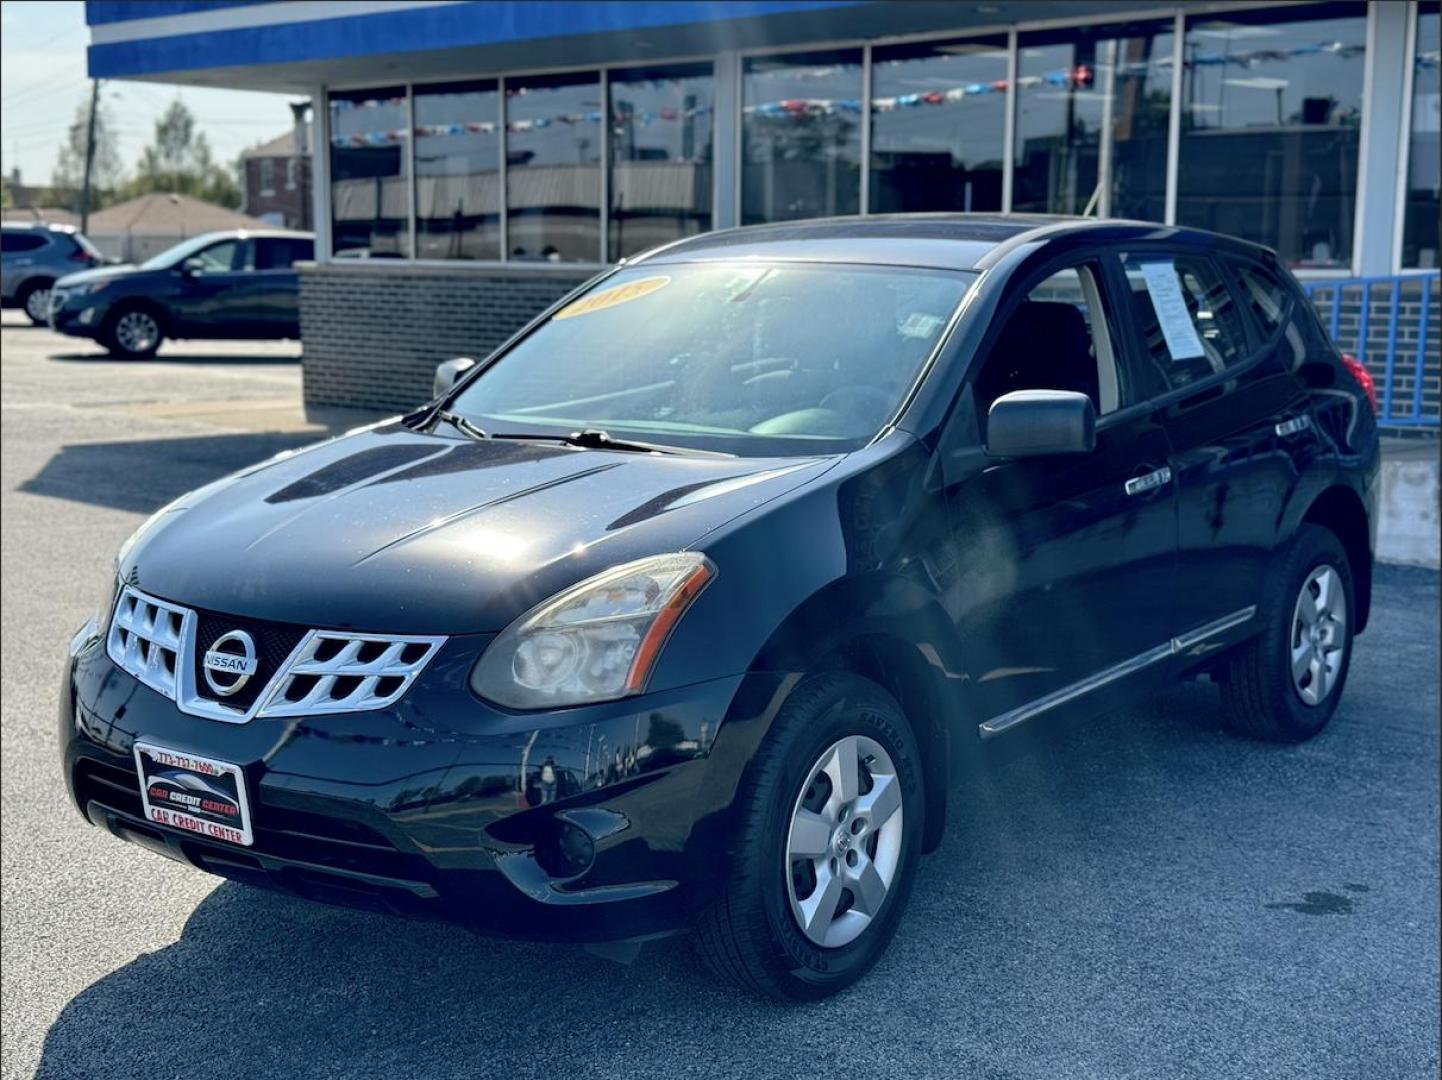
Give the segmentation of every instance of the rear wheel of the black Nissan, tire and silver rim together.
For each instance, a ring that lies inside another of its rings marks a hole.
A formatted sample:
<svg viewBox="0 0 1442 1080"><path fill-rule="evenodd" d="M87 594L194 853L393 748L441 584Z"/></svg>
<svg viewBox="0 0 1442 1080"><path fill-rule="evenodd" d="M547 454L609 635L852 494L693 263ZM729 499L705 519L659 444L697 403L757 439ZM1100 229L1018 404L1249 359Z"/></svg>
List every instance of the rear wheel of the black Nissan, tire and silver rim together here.
<svg viewBox="0 0 1442 1080"><path fill-rule="evenodd" d="M1304 525L1268 578L1262 633L1221 672L1227 727L1272 743L1327 727L1347 683L1355 611L1347 549L1331 529Z"/></svg>

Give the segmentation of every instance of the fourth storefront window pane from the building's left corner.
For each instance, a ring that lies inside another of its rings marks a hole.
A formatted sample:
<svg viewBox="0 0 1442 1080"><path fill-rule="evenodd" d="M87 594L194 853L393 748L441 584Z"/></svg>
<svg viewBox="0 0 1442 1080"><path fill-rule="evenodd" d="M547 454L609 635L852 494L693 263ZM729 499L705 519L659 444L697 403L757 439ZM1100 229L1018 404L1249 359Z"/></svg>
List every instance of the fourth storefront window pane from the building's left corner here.
<svg viewBox="0 0 1442 1080"><path fill-rule="evenodd" d="M711 228L714 85L709 63L611 71L607 258Z"/></svg>

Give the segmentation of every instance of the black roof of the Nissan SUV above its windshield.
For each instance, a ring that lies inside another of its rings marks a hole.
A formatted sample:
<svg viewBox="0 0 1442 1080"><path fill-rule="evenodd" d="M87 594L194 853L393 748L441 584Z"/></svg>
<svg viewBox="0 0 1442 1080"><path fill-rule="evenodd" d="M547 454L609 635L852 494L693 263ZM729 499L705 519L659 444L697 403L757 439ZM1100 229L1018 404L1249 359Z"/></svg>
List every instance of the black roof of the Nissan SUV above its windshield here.
<svg viewBox="0 0 1442 1080"><path fill-rule="evenodd" d="M1201 229L1115 218L1045 213L877 213L816 218L776 225L747 225L676 241L634 262L702 262L780 258L815 262L982 270L1002 251L1021 244L1056 241L1087 232L1116 238L1193 238L1210 245L1255 245ZM1257 248L1259 249L1259 248Z"/></svg>

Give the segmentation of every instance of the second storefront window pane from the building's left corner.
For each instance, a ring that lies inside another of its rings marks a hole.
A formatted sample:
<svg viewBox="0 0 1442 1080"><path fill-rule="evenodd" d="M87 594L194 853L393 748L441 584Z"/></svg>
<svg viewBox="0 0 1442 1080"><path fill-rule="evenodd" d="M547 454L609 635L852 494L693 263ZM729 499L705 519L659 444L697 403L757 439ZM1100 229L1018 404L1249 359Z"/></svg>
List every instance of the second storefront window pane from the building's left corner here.
<svg viewBox="0 0 1442 1080"><path fill-rule="evenodd" d="M417 258L500 258L496 82L415 88Z"/></svg>

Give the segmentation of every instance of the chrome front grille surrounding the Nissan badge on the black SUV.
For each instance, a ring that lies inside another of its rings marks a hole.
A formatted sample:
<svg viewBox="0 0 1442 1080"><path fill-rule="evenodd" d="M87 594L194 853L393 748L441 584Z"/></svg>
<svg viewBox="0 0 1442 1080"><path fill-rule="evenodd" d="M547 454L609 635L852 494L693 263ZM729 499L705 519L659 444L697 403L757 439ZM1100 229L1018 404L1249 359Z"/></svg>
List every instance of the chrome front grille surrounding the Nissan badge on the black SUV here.
<svg viewBox="0 0 1442 1080"><path fill-rule="evenodd" d="M239 705L208 695L199 686L200 655L213 645L196 640L202 621L208 627L231 621L257 626L255 620L198 614L125 585L111 619L107 652L117 666L174 701L182 712L242 724L254 717L386 708L411 688L446 642L417 634L307 630L271 672L257 672L257 678L265 679L264 686L254 696L247 695L248 705ZM278 623L271 626L284 629ZM212 633L213 629L206 632Z"/></svg>

